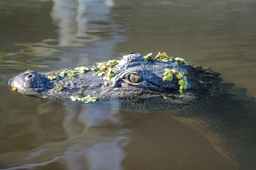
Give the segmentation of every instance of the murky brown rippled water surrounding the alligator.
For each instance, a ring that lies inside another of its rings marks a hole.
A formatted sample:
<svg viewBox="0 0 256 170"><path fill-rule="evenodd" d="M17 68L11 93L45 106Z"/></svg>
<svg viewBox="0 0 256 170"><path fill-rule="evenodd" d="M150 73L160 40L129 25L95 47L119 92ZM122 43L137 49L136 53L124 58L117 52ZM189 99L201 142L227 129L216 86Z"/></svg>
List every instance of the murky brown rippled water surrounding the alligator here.
<svg viewBox="0 0 256 170"><path fill-rule="evenodd" d="M6 80L164 51L255 97L255 0L1 0L0 23L0 168L236 169L172 116L61 105L12 92Z"/></svg>

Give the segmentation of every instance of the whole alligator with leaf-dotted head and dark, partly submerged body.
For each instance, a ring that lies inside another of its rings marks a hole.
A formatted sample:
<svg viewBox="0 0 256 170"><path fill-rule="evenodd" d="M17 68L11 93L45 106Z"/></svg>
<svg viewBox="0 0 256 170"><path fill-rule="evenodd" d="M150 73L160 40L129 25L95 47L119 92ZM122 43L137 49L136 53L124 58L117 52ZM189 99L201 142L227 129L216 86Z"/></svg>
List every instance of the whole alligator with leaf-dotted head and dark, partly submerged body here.
<svg viewBox="0 0 256 170"><path fill-rule="evenodd" d="M152 58L133 52L92 67L26 71L10 84L20 94L61 103L169 114L204 134L238 169L252 169L256 167L255 99L234 89L234 84L220 83L219 75L165 53Z"/></svg>

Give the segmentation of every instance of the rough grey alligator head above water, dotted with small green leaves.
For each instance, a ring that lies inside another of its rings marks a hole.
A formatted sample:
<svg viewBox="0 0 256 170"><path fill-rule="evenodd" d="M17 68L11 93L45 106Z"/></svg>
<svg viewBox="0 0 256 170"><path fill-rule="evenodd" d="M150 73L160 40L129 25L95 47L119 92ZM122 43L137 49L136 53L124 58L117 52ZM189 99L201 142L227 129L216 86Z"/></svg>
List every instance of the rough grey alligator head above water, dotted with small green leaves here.
<svg viewBox="0 0 256 170"><path fill-rule="evenodd" d="M181 93L195 93L191 89L196 88L201 92L207 86L204 82L211 84L209 80L202 81L202 77L214 74L210 69L193 67L175 59L150 59L148 61L137 53L123 56L119 62L115 63L116 65L110 63L108 69L105 63L100 63L102 65L99 64L98 68L93 68L94 71L92 69L86 73L73 70L71 77L64 75L65 71L55 71L56 79L52 80L49 79L49 73L26 71L13 78L11 85L21 94L53 100L70 99L72 96L83 98L87 95L99 97L99 99L106 97L152 98L165 95L179 98L184 96ZM175 73L167 73L166 69ZM196 76L197 73L199 76ZM165 74L171 75L172 80L163 80ZM177 74L183 78L177 77ZM180 84L180 79L186 82L186 88L185 85L183 87ZM195 87L195 85L199 86Z"/></svg>

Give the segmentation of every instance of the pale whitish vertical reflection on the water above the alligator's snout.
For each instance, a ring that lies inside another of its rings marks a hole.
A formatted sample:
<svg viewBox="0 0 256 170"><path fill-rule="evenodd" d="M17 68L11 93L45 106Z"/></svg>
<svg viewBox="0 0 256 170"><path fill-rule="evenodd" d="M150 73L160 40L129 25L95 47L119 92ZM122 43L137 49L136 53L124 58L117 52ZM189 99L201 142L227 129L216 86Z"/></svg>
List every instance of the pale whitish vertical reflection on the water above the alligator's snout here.
<svg viewBox="0 0 256 170"><path fill-rule="evenodd" d="M111 24L109 12L113 6L113 0L53 1L51 16L55 25L58 26L59 46L84 46L89 42L99 41L101 37L87 34L87 30L95 28L95 25L99 29L108 31Z"/></svg>

